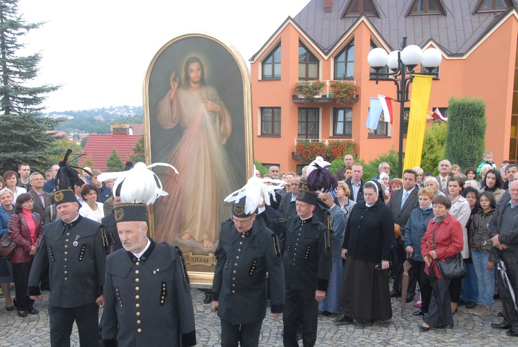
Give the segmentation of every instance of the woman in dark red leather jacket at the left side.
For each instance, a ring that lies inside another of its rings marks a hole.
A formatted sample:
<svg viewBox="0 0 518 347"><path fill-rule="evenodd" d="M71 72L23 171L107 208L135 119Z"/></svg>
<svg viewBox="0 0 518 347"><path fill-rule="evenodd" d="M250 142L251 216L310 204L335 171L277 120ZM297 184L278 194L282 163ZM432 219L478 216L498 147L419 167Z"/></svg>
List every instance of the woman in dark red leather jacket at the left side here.
<svg viewBox="0 0 518 347"><path fill-rule="evenodd" d="M27 295L32 258L41 240L41 219L39 214L32 213L32 196L20 194L15 204L15 214L9 218L7 229L17 247L12 254L12 274L15 278L16 306L20 317L28 313L37 315L38 310L32 306L34 300Z"/></svg>

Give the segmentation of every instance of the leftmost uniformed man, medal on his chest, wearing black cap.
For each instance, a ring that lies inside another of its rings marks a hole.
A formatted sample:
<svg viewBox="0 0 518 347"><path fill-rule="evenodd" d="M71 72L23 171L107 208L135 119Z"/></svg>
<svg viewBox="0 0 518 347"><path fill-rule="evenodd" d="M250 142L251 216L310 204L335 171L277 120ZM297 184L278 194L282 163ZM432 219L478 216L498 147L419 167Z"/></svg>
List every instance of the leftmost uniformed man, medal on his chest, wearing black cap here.
<svg viewBox="0 0 518 347"><path fill-rule="evenodd" d="M41 299L39 279L49 267L50 345L70 346L76 321L81 346L97 346L99 306L103 302L104 245L102 225L79 215L73 189L52 193L59 220L44 225L30 270L28 294Z"/></svg>

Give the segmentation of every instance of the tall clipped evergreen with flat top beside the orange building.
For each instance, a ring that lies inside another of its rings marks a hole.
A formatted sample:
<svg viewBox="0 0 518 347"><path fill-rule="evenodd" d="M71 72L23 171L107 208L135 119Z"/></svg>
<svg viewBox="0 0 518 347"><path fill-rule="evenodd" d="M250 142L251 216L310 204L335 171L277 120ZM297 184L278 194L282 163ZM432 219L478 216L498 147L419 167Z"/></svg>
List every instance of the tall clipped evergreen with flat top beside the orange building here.
<svg viewBox="0 0 518 347"><path fill-rule="evenodd" d="M445 158L461 168L477 167L486 147L486 104L452 97L448 104Z"/></svg>

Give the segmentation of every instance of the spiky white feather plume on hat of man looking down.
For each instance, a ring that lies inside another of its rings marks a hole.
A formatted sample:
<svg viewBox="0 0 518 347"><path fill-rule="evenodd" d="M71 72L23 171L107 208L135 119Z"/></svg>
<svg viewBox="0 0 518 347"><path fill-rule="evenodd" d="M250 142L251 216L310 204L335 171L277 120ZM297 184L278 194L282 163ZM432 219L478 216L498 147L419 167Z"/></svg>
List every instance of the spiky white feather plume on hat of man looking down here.
<svg viewBox="0 0 518 347"><path fill-rule="evenodd" d="M259 205L262 205L262 198L265 198L265 204L270 205L270 196L275 197L275 191L286 185L283 180L272 180L267 178L268 182L274 183L274 185L267 185L265 180L262 178L252 176L244 187L234 191L232 194L224 198L227 203L238 202L243 196L247 197L247 202L244 205L244 212L247 214L253 213Z"/></svg>

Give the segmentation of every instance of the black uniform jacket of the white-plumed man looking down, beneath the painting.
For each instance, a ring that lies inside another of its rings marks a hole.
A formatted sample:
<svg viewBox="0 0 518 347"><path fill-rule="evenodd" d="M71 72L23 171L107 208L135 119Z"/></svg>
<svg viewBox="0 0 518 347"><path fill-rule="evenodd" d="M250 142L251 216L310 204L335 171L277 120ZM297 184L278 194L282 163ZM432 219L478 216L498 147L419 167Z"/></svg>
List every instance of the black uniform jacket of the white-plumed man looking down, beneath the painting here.
<svg viewBox="0 0 518 347"><path fill-rule="evenodd" d="M266 212L265 212L266 213ZM267 306L267 273L271 312L281 313L285 303L285 278L277 236L256 218L240 234L231 221L221 223L218 261L212 284L218 316L232 324L262 321Z"/></svg>

